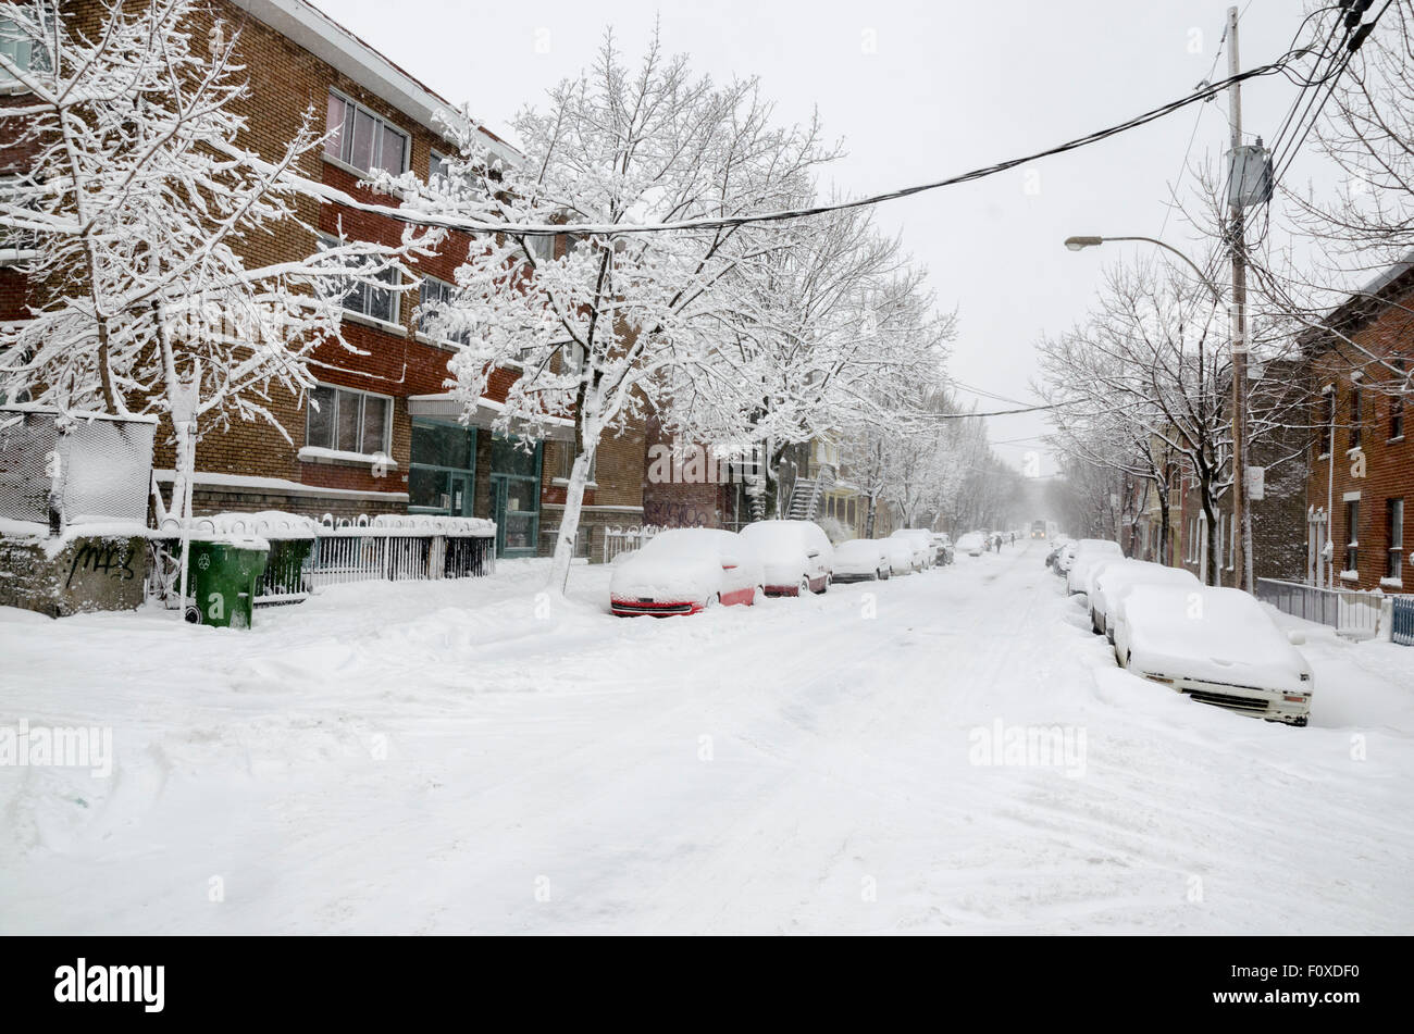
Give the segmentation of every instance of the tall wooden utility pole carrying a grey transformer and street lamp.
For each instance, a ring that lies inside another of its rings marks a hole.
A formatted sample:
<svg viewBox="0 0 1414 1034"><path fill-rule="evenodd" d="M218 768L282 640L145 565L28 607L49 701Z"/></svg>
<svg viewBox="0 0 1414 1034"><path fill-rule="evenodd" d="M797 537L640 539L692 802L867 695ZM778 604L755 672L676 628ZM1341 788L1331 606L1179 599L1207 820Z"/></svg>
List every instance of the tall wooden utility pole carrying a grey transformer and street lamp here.
<svg viewBox="0 0 1414 1034"><path fill-rule="evenodd" d="M1237 8L1227 8L1227 73L1237 76ZM1229 88L1229 121L1232 124L1232 172L1241 175L1241 83ZM1237 188L1237 189L1234 189ZM1233 260L1233 559L1234 578L1251 592L1251 516L1247 513L1247 230L1241 184L1229 185L1229 247ZM1219 568L1222 558L1219 558Z"/></svg>

